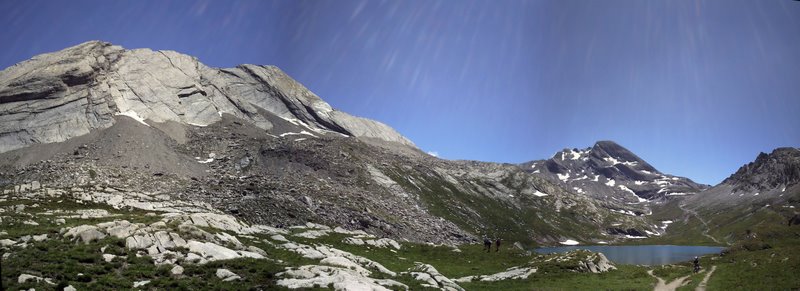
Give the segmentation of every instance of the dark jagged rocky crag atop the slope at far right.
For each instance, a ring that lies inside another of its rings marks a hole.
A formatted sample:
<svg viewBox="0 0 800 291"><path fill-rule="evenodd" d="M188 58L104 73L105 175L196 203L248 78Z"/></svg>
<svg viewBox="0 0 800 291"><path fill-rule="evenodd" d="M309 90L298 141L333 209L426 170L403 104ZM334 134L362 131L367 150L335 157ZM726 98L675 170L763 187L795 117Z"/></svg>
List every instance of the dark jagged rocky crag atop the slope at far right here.
<svg viewBox="0 0 800 291"><path fill-rule="evenodd" d="M722 181L734 192L764 192L786 189L800 182L800 149L778 148L760 153L755 161L739 168Z"/></svg>

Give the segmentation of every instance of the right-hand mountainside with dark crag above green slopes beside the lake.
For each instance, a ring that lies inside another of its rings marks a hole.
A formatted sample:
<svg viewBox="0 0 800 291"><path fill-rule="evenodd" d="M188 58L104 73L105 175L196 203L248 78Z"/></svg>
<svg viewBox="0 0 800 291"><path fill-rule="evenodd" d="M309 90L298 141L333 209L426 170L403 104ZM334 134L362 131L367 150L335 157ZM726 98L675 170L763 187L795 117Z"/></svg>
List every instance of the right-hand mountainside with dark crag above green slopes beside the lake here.
<svg viewBox="0 0 800 291"><path fill-rule="evenodd" d="M748 239L750 231L759 237L791 237L783 227L796 223L800 209L800 149L760 153L722 183L681 201L681 208L700 218L702 225L694 227L715 241Z"/></svg>

